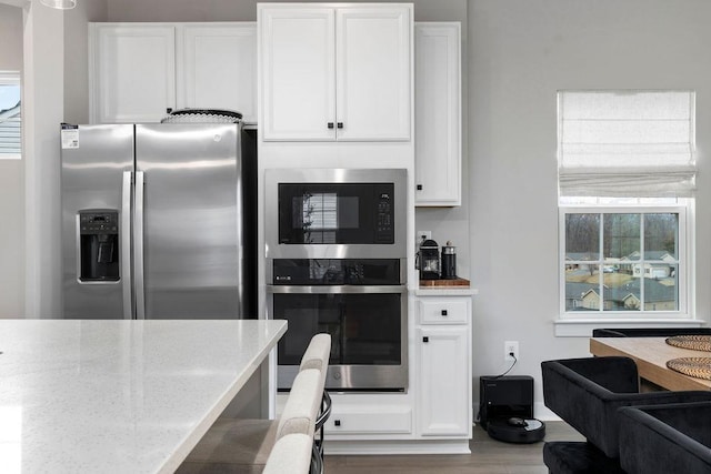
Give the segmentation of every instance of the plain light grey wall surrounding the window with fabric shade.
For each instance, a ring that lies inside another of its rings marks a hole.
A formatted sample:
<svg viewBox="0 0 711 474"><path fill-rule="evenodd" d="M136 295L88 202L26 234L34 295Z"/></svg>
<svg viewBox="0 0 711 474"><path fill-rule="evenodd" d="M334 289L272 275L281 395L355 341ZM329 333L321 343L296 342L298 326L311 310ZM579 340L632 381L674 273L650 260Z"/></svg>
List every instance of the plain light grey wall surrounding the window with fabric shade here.
<svg viewBox="0 0 711 474"><path fill-rule="evenodd" d="M474 374L537 379L547 359L587 356L588 340L553 336L558 316L559 89L692 89L699 147L699 315L711 321L709 202L711 3L705 0L470 0L469 161Z"/></svg>

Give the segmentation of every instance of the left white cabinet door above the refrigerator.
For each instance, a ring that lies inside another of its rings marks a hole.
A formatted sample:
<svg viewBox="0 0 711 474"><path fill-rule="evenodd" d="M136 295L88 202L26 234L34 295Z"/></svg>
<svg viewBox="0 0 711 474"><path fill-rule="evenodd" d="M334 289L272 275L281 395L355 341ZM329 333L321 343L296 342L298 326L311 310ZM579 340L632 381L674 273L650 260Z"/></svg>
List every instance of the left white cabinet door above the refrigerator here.
<svg viewBox="0 0 711 474"><path fill-rule="evenodd" d="M92 122L159 122L176 107L174 27L90 24Z"/></svg>

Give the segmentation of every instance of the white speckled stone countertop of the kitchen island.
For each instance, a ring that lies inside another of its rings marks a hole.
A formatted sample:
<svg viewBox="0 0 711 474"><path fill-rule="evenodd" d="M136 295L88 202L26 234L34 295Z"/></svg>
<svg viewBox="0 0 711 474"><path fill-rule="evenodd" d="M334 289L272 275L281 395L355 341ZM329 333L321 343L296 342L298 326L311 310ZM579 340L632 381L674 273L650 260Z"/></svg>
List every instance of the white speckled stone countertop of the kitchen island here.
<svg viewBox="0 0 711 474"><path fill-rule="evenodd" d="M0 465L172 473L284 321L0 320Z"/></svg>

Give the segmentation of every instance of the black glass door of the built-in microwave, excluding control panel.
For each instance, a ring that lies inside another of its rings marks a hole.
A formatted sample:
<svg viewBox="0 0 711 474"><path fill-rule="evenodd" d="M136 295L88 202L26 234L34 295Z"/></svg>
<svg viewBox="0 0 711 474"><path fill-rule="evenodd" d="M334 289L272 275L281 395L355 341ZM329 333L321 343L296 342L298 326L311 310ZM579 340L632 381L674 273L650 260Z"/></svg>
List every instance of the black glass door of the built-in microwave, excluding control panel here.
<svg viewBox="0 0 711 474"><path fill-rule="evenodd" d="M375 205L370 185L279 184L279 243L373 243Z"/></svg>

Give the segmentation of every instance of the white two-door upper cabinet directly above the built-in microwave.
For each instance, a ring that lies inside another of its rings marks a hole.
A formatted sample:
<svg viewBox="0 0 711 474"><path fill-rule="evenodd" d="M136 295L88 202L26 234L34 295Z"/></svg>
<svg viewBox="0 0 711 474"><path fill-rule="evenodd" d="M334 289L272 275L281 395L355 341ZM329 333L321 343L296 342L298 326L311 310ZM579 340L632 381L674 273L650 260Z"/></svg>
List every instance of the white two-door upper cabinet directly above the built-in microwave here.
<svg viewBox="0 0 711 474"><path fill-rule="evenodd" d="M258 9L264 140L410 140L409 6Z"/></svg>

